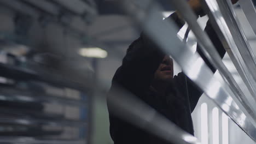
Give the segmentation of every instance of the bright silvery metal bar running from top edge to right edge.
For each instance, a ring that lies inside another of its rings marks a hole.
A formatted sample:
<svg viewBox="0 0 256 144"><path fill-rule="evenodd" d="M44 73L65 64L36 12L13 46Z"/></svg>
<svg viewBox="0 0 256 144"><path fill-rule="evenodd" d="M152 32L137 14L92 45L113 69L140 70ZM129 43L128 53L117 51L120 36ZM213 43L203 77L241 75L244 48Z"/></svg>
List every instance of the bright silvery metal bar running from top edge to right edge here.
<svg viewBox="0 0 256 144"><path fill-rule="evenodd" d="M245 45L242 45L240 37L239 36L237 37L237 35L239 34L234 34L235 33L234 31L238 32L241 30L238 27L235 28L234 24L232 24L232 20L231 20L232 16L229 16L227 14L225 14L224 16L223 15L224 13L221 13L217 1L206 0L202 2L204 5L203 8L205 9L205 11L207 11L208 16L210 17L210 21L213 25L213 28L216 30L220 40L222 40L225 50L228 52L238 73L242 77L242 80L245 82L249 92L252 94L251 95L252 100L249 100L248 102L251 103L251 105L254 105L253 101L255 100L255 94L256 94L256 82L254 80L253 75L255 75L255 73L252 73L252 71L249 70L250 66L247 65L246 58L243 59L243 57L246 57L246 55L241 55L240 53L241 51L239 51L239 49L241 48L243 49L242 51L246 51L246 48L243 47ZM229 23L226 21L229 21ZM233 33L232 35L231 35L231 31ZM239 41L241 43L239 43ZM254 66L251 65L251 67L254 67ZM247 96L247 99L249 98L250 97Z"/></svg>

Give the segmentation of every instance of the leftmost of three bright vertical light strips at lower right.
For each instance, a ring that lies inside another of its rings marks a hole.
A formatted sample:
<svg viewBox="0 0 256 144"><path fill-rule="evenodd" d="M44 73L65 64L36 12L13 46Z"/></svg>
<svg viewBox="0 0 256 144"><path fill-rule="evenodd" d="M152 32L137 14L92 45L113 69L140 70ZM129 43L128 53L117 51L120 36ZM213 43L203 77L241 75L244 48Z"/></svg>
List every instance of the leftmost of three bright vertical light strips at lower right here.
<svg viewBox="0 0 256 144"><path fill-rule="evenodd" d="M208 110L206 103L201 105L201 142L208 144Z"/></svg>

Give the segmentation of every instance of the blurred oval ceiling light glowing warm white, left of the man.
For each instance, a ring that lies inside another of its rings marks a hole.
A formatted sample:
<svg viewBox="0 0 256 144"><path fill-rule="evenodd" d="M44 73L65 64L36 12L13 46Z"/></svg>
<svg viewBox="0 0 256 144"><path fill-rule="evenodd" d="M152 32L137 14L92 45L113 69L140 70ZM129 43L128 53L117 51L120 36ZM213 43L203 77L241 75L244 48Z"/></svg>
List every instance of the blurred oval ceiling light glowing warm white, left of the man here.
<svg viewBox="0 0 256 144"><path fill-rule="evenodd" d="M78 53L83 57L106 58L108 56L107 51L98 47L82 48Z"/></svg>

